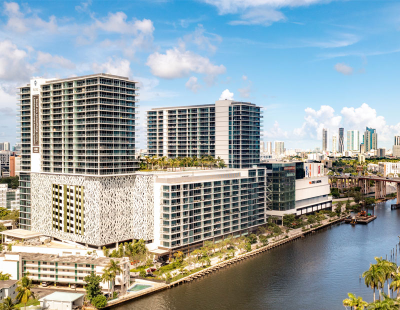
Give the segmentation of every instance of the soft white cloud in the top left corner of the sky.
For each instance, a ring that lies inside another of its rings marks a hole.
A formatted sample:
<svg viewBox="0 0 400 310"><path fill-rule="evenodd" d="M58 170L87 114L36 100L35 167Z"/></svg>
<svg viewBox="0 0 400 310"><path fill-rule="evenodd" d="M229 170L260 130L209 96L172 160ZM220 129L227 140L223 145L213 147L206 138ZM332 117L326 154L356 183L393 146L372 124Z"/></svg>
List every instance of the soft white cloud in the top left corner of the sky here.
<svg viewBox="0 0 400 310"><path fill-rule="evenodd" d="M48 21L45 21L35 14L26 16L19 10L19 4L16 2L4 2L3 12L8 17L6 28L13 32L32 31L34 28L44 29L45 31L57 31L57 21L54 15L51 15Z"/></svg>

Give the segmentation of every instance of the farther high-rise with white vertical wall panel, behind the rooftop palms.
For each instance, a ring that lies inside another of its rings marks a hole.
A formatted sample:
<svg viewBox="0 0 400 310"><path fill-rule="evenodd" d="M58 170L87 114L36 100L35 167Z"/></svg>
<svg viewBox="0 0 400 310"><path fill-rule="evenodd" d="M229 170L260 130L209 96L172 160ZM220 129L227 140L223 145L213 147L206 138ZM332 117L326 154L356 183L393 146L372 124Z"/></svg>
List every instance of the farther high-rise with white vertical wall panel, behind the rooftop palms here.
<svg viewBox="0 0 400 310"><path fill-rule="evenodd" d="M259 163L262 111L250 102L159 107L147 111L149 156L221 157L229 168Z"/></svg>

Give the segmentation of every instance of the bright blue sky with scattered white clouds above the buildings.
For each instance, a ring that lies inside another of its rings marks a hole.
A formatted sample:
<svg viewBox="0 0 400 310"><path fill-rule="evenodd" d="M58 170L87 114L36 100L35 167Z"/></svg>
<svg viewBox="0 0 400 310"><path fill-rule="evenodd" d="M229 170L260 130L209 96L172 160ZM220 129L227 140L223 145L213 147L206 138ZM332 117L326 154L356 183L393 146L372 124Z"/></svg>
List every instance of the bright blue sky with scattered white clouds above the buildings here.
<svg viewBox="0 0 400 310"><path fill-rule="evenodd" d="M264 108L264 139L321 146L321 129L400 134L400 2L1 2L0 141L15 143L15 87L94 72L140 82L159 106L220 96ZM223 95L222 95L223 92ZM362 136L360 136L362 139ZM141 144L143 147L143 144Z"/></svg>

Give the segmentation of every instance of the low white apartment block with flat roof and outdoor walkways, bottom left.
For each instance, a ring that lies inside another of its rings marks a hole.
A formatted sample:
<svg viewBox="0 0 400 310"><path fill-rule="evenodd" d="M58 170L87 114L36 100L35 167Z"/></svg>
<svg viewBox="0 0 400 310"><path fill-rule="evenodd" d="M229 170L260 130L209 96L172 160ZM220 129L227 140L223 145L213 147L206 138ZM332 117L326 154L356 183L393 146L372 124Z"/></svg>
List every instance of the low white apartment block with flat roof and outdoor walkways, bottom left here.
<svg viewBox="0 0 400 310"><path fill-rule="evenodd" d="M91 272L96 275L103 273L103 268L113 259L118 262L122 272L117 272L115 285L124 291L129 285L129 259L128 257L110 258L91 256L68 255L58 256L45 253L12 252L0 257L1 264L7 266L7 272L13 279L19 279L29 273L29 278L34 282L50 281L54 284L81 284L84 277ZM4 269L2 269L3 271ZM108 283L100 283L107 289Z"/></svg>

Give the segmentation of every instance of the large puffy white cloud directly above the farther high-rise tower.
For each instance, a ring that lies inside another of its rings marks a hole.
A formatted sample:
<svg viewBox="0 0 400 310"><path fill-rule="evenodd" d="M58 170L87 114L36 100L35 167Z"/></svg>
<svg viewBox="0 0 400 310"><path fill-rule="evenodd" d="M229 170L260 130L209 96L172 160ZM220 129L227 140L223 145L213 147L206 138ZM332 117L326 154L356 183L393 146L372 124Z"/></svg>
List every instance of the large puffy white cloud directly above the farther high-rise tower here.
<svg viewBox="0 0 400 310"><path fill-rule="evenodd" d="M206 57L177 47L167 49L164 54L159 52L150 54L146 65L150 67L152 74L162 78L184 77L191 72L206 74L213 78L225 72L222 64L212 64Z"/></svg>

